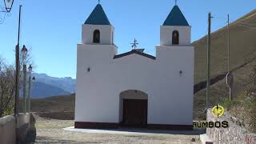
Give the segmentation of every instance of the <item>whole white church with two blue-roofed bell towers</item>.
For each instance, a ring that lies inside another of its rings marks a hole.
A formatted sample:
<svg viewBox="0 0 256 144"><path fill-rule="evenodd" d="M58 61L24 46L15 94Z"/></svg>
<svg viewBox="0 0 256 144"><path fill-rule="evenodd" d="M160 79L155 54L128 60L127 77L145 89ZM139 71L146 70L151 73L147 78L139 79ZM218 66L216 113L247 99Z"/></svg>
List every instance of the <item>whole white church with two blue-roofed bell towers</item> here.
<svg viewBox="0 0 256 144"><path fill-rule="evenodd" d="M98 4L82 25L77 51L75 128L193 128L194 46L191 26L174 6L160 26L155 56L118 54L114 26Z"/></svg>

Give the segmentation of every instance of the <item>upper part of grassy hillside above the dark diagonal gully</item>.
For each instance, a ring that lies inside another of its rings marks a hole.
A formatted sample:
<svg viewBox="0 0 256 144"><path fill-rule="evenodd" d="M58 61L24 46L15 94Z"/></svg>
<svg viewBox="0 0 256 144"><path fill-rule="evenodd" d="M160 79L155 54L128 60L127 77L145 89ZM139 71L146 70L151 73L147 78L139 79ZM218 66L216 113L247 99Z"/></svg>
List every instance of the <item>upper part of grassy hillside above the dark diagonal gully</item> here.
<svg viewBox="0 0 256 144"><path fill-rule="evenodd" d="M250 27L250 28L248 28ZM211 34L211 77L227 70L227 28ZM230 24L230 69L241 66L256 56L256 10ZM203 37L192 43L195 46L194 82L206 80L206 46Z"/></svg>

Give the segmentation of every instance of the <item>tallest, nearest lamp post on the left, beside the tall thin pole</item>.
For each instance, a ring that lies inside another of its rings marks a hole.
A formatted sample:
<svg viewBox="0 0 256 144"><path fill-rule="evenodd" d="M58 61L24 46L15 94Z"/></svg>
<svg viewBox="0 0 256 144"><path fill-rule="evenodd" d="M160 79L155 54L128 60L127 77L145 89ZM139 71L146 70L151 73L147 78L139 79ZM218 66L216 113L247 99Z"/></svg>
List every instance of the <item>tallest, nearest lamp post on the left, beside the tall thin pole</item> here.
<svg viewBox="0 0 256 144"><path fill-rule="evenodd" d="M22 112L26 113L26 56L27 49L26 46L22 47L22 63L23 63L23 102L22 102Z"/></svg>

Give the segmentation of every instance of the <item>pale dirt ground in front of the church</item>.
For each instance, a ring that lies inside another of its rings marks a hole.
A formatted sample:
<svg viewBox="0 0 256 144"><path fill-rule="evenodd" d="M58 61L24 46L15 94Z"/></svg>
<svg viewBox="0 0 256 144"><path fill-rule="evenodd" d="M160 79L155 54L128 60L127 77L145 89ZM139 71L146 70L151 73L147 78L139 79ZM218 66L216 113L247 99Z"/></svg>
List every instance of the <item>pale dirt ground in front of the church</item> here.
<svg viewBox="0 0 256 144"><path fill-rule="evenodd" d="M74 126L74 121L37 118L35 143L109 143L109 144L198 144L198 134L88 134L62 128ZM195 138L196 142L191 142Z"/></svg>

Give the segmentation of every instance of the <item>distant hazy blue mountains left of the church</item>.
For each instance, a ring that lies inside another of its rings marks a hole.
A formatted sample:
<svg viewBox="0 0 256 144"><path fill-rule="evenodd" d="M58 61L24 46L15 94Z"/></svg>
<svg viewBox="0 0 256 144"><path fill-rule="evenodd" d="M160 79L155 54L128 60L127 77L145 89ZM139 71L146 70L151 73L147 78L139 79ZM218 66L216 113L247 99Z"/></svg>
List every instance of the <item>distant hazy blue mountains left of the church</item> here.
<svg viewBox="0 0 256 144"><path fill-rule="evenodd" d="M75 92L76 80L73 78L54 78L37 73L33 73L32 76L35 77L35 82L32 84L32 98L47 98Z"/></svg>

